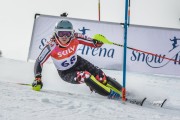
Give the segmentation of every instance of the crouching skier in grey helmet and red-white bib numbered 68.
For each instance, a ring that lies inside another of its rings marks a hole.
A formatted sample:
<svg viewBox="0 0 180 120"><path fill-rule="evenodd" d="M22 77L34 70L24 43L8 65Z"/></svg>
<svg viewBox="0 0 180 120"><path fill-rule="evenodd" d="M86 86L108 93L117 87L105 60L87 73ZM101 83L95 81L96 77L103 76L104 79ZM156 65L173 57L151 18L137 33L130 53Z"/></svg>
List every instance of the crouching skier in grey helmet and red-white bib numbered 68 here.
<svg viewBox="0 0 180 120"><path fill-rule="evenodd" d="M119 98L122 86L98 67L78 56L76 53L78 44L90 47L101 47L102 42L75 33L73 25L68 20L58 22L50 42L41 51L34 66L35 80L32 83L33 90L39 91L43 87L41 72L43 63L51 56L59 76L66 82L72 84L86 83L91 91L108 96L108 98Z"/></svg>

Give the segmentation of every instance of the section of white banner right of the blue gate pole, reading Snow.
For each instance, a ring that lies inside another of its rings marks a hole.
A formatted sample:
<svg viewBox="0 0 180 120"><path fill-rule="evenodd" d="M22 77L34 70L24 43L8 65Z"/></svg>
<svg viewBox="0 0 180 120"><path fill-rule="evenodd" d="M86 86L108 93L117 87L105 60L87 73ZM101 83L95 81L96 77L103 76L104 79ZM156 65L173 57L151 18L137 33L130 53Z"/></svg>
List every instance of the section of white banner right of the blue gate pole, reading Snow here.
<svg viewBox="0 0 180 120"><path fill-rule="evenodd" d="M129 71L179 76L179 45L180 30L131 26L128 28L128 46L147 53L128 50L127 68Z"/></svg>

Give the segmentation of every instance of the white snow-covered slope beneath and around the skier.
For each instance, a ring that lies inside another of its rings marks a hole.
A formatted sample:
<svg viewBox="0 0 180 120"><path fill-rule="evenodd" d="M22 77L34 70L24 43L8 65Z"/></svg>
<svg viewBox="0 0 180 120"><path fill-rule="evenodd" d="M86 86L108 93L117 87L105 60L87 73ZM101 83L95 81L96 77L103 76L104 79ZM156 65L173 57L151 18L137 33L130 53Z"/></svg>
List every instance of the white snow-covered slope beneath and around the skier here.
<svg viewBox="0 0 180 120"><path fill-rule="evenodd" d="M138 106L64 82L52 64L43 68L42 91L32 83L33 62L0 57L0 120L180 120L180 77L127 73L127 91L147 100L167 98L163 108ZM122 71L104 70L122 84Z"/></svg>

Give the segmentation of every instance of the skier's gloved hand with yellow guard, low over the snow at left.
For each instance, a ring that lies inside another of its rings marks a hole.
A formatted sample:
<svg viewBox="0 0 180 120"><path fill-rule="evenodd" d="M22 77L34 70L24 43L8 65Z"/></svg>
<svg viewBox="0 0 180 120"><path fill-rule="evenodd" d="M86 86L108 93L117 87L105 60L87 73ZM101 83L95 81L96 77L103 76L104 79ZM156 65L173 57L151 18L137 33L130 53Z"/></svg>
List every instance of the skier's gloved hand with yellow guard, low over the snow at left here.
<svg viewBox="0 0 180 120"><path fill-rule="evenodd" d="M40 91L43 87L43 83L41 81L41 77L36 77L32 83L32 89L35 91Z"/></svg>

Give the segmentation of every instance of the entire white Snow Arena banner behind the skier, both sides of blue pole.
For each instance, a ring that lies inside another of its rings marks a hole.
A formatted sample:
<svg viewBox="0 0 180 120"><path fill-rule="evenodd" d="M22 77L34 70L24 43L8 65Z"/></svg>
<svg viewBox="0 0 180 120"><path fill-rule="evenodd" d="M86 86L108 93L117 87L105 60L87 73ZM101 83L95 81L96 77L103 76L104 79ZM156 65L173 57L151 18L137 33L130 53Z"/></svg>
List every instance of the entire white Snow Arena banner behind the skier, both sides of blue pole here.
<svg viewBox="0 0 180 120"><path fill-rule="evenodd" d="M61 20L69 20L78 33L88 37L102 34L123 45L124 28L120 23L40 15L34 22L28 60L38 57L50 40L55 24ZM179 45L178 29L130 25L127 46L134 49L127 49L127 71L179 76ZM77 53L100 68L122 70L123 48L120 46L104 44L101 48L91 48L79 45Z"/></svg>

